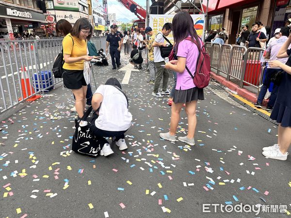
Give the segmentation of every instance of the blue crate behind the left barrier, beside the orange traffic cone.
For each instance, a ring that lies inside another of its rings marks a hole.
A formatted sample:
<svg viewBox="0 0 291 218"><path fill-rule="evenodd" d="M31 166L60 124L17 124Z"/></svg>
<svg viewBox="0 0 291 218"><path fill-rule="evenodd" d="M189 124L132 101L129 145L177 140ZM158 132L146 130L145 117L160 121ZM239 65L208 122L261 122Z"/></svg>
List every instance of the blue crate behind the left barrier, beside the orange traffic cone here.
<svg viewBox="0 0 291 218"><path fill-rule="evenodd" d="M41 86L41 81L38 81L42 79L42 86ZM53 79L52 79L52 75L51 72L49 71L41 71L38 76L36 73L34 73L33 75L33 87L36 89L36 92L39 91L39 89L43 88L43 90L52 90L53 89Z"/></svg>

